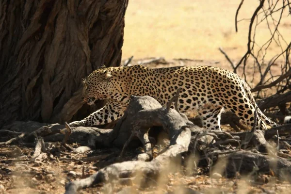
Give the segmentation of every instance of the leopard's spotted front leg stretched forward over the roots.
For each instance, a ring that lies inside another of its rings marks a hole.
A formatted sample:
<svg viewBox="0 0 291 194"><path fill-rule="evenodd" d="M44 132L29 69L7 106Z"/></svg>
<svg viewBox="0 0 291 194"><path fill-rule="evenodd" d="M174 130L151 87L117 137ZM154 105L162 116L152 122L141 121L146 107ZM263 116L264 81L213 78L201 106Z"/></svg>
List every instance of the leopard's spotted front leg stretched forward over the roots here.
<svg viewBox="0 0 291 194"><path fill-rule="evenodd" d="M125 106L117 102L113 99L109 99L106 105L97 110L96 112L90 114L86 118L82 119L81 121L74 121L69 124L70 127L91 127L95 125L103 125L107 123L111 123L114 120L123 116L125 111Z"/></svg>

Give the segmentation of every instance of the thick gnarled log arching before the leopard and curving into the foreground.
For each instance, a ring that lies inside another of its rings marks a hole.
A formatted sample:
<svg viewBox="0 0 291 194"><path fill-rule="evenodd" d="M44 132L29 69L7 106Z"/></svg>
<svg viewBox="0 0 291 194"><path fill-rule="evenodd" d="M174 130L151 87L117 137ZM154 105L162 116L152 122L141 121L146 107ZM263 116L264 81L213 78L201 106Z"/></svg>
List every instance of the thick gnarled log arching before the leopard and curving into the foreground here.
<svg viewBox="0 0 291 194"><path fill-rule="evenodd" d="M178 96L176 96L176 103ZM158 107L158 108L157 108ZM134 116L129 116L134 113ZM109 182L124 178L134 178L135 175L144 175L147 178L157 179L170 172L169 166L173 159L188 150L191 140L191 131L200 128L194 126L184 114L178 113L169 107L162 107L152 97L132 97L129 107L118 124L120 130L128 132L139 131L147 134L153 126L161 126L169 134L170 146L151 162L129 161L111 164L96 174L66 185L66 194L74 194L79 189L90 187L100 182ZM114 130L114 129L113 129ZM117 130L116 131L120 131ZM146 148L147 149L147 148ZM167 172L167 173L165 173Z"/></svg>

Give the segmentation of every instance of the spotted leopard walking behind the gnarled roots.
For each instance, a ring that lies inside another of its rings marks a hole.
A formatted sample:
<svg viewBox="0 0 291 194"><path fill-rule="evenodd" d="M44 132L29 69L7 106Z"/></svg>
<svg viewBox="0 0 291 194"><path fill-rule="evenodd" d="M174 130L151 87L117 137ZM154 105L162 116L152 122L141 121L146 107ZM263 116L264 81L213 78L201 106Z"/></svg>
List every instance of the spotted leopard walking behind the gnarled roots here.
<svg viewBox="0 0 291 194"><path fill-rule="evenodd" d="M266 130L277 126L261 112L250 87L236 73L207 65L98 68L83 81L83 100L92 105L96 100L107 99L106 105L81 121L71 122L69 126L90 127L111 123L124 115L131 95L154 97L166 105L178 88L179 111L196 111L206 129L221 130L221 113L224 111L236 114L244 124L254 129Z"/></svg>

